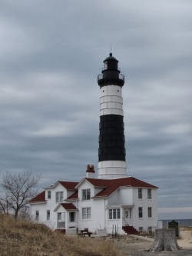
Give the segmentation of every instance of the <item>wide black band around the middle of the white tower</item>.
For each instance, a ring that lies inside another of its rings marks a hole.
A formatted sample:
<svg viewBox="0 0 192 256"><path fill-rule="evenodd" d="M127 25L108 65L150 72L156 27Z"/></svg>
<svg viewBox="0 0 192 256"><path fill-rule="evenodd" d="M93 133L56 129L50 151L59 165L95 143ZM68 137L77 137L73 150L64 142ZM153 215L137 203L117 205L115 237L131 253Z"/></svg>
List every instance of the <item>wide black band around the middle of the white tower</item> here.
<svg viewBox="0 0 192 256"><path fill-rule="evenodd" d="M125 161L123 118L122 115L100 116L99 161Z"/></svg>

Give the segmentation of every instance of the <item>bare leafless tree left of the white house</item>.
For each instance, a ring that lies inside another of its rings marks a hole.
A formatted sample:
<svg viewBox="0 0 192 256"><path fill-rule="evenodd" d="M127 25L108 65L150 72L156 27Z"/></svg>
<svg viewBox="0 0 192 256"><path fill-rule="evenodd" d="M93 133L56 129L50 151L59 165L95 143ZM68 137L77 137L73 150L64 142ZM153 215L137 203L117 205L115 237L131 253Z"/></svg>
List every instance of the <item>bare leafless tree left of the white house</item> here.
<svg viewBox="0 0 192 256"><path fill-rule="evenodd" d="M6 196L0 198L0 207L4 206L2 207L4 213L8 213L8 209L11 209L15 218L18 218L19 211L22 211L28 201L35 196L35 185L37 185L39 178L39 175L34 176L28 171L22 171L18 174L10 172L3 174L1 185Z"/></svg>

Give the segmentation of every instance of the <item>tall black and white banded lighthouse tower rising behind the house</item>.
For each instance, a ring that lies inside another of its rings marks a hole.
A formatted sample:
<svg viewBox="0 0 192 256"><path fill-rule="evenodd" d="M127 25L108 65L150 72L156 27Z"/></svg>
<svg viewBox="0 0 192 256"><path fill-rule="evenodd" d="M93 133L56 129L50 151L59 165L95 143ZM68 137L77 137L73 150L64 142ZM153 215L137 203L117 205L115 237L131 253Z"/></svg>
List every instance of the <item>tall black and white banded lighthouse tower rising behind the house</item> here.
<svg viewBox="0 0 192 256"><path fill-rule="evenodd" d="M100 86L100 125L98 178L113 179L127 176L124 148L124 112L122 87L124 75L112 53L104 60L98 75Z"/></svg>

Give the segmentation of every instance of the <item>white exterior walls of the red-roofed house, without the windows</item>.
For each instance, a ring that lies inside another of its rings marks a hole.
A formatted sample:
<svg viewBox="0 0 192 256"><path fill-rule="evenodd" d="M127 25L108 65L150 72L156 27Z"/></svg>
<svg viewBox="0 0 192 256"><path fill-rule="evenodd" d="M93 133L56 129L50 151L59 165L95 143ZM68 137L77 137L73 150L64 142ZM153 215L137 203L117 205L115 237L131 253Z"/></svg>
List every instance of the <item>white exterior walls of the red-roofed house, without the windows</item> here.
<svg viewBox="0 0 192 256"><path fill-rule="evenodd" d="M91 198L89 200L82 200L83 189L90 189ZM147 228L152 229L157 227L157 189L152 188L152 198L147 198L147 188L142 188L142 199L138 198L138 188L125 187L119 188L117 191L111 194L108 198L93 198L101 188L94 188L90 182L84 180L78 187L79 200L73 201L73 204L78 208L75 211L75 221L70 222L69 212L65 208L59 206L56 211L55 208L60 204L55 202L55 192L63 191L64 199L67 197L66 189L58 185L55 188L51 188L51 199L47 199L45 202L38 204L31 204L31 215L35 219L35 211L39 211L39 222L48 225L48 227L57 228L57 214L58 212L65 212L65 227L67 233L75 233L76 228L79 230L88 228L92 232L98 232L98 230L105 230L108 233L116 231L119 234L124 234L122 226L129 224L134 226L137 230L143 228L147 231ZM71 193L71 191L70 191ZM65 202L65 201L64 201ZM143 218L138 218L138 208L143 208ZM147 208L152 208L152 218L148 218ZM82 208L91 208L91 218L82 218ZM119 208L121 211L120 219L109 219L108 212L111 208ZM50 210L50 221L47 221L47 210ZM128 214L127 214L128 213ZM126 217L127 215L127 217Z"/></svg>

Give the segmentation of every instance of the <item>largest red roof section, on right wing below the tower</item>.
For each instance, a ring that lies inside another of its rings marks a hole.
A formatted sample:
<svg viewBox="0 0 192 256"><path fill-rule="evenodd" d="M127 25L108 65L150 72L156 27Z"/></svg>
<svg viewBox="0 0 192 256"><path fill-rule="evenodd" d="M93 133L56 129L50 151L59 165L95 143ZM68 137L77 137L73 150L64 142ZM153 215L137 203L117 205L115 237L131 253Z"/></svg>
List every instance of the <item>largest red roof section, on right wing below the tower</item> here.
<svg viewBox="0 0 192 256"><path fill-rule="evenodd" d="M137 178L127 177L112 180L102 180L97 178L86 178L94 187L104 188L101 192L96 194L94 198L108 197L111 193L121 187L134 187L134 188L157 188L147 182L138 180Z"/></svg>

